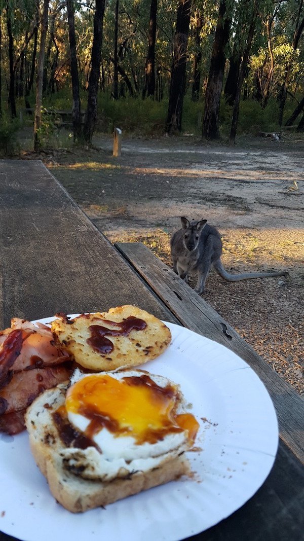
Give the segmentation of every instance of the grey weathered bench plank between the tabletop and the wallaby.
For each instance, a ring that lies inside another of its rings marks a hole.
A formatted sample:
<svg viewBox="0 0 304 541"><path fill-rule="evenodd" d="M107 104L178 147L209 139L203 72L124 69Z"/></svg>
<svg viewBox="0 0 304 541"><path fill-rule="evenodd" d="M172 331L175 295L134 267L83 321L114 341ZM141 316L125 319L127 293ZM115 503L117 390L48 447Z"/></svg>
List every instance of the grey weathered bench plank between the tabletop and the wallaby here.
<svg viewBox="0 0 304 541"><path fill-rule="evenodd" d="M304 460L304 401L214 309L141 242L117 243L117 248L153 287L184 327L232 349L265 384L276 408L280 436Z"/></svg>

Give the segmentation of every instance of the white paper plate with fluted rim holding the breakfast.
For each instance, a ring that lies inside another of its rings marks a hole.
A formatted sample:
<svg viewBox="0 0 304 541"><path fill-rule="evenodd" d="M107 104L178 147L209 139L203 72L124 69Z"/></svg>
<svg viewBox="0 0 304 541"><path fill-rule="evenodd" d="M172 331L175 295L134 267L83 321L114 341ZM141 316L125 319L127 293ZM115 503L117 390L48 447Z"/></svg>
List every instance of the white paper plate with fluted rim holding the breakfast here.
<svg viewBox="0 0 304 541"><path fill-rule="evenodd" d="M52 318L39 320L48 322ZM0 434L0 530L23 541L177 541L239 509L265 481L278 444L276 414L255 372L224 346L167 323L172 342L144 365L181 385L200 422L193 479L72 514L57 504L27 433Z"/></svg>

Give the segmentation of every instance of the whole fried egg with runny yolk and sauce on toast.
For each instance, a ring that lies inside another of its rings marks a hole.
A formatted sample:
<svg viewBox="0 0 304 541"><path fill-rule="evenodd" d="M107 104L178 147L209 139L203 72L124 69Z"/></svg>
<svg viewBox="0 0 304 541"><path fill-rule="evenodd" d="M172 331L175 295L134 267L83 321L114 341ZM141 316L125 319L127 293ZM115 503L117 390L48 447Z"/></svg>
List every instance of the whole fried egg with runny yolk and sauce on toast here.
<svg viewBox="0 0 304 541"><path fill-rule="evenodd" d="M65 409L70 424L94 442L84 450L63 451L85 478L149 471L191 448L199 428L178 385L139 370L76 373Z"/></svg>

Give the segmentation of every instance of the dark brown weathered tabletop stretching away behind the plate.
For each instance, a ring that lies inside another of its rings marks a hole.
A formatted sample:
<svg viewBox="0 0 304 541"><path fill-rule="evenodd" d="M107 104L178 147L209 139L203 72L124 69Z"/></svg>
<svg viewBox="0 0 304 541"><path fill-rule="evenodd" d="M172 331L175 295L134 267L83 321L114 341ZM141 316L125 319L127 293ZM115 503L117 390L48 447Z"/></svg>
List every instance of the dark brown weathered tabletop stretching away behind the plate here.
<svg viewBox="0 0 304 541"><path fill-rule="evenodd" d="M0 328L122 304L176 321L41 161L0 161Z"/></svg>

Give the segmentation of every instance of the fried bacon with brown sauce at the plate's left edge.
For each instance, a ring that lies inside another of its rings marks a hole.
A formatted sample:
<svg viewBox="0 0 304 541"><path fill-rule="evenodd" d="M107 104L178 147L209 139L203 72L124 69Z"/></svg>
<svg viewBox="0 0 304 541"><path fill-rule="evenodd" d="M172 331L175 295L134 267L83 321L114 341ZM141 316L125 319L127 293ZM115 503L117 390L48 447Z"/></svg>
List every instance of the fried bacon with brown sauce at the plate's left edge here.
<svg viewBox="0 0 304 541"><path fill-rule="evenodd" d="M14 318L0 332L0 432L24 430L24 414L46 389L69 379L69 354L46 325Z"/></svg>

